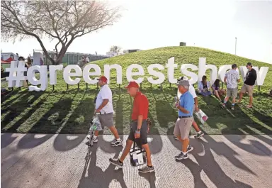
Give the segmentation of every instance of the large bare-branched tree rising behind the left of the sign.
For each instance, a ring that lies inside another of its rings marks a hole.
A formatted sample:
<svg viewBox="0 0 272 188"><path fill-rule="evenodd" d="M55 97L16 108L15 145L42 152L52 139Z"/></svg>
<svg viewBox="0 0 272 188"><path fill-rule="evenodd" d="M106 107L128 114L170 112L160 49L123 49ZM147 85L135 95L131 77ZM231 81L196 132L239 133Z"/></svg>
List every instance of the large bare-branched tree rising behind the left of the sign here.
<svg viewBox="0 0 272 188"><path fill-rule="evenodd" d="M1 38L5 41L34 37L52 64L62 62L74 39L120 18L119 7L101 1L1 1ZM57 40L54 60L42 43L43 37Z"/></svg>

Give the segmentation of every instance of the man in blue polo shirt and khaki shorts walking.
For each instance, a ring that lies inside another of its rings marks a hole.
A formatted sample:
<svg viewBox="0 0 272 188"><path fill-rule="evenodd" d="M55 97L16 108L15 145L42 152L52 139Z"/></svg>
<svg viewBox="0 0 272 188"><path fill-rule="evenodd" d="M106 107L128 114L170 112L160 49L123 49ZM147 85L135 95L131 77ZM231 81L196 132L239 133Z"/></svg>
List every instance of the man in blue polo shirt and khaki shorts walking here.
<svg viewBox="0 0 272 188"><path fill-rule="evenodd" d="M177 86L182 95L178 104L176 104L176 108L179 109L179 118L174 128L174 136L181 141L182 151L175 158L177 160L183 160L187 159L187 153L193 150L193 147L189 145L189 133L193 123L194 100L193 96L188 92L190 87L188 80L180 80Z"/></svg>

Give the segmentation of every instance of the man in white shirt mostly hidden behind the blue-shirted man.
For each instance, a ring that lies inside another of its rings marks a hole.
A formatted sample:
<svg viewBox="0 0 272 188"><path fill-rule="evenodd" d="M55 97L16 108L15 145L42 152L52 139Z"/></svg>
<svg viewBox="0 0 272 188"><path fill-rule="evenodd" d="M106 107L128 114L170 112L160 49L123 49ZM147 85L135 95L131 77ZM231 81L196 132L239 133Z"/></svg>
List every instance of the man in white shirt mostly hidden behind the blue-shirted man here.
<svg viewBox="0 0 272 188"><path fill-rule="evenodd" d="M181 77L181 79L179 79L179 80L189 80L189 79L188 79L188 77ZM191 95L193 96L193 99L195 101L195 111L199 111L199 109L198 109L198 96L196 95L195 88L191 84L189 86L189 92L191 93ZM181 96L181 93L179 93L179 89L178 89L178 97L179 97L179 99L180 99L180 96ZM197 134L196 134L196 136L194 136L194 138L200 138L201 136L204 135L204 133L202 131L200 131L200 128L198 127L198 124L196 123L196 121L193 121L193 128L197 132ZM174 138L176 140L178 140L178 138L176 138L176 136L174 136Z"/></svg>

